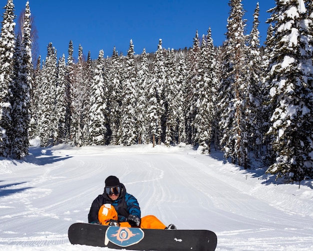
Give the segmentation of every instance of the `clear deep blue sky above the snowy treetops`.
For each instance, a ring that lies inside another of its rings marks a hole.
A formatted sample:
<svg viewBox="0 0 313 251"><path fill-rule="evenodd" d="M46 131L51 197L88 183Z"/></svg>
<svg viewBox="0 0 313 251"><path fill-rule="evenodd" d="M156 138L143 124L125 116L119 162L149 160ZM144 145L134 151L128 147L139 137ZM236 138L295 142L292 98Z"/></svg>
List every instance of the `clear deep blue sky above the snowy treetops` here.
<svg viewBox="0 0 313 251"><path fill-rule="evenodd" d="M0 0L1 8L7 0ZM78 45L83 53L91 52L97 58L100 49L104 55L116 50L127 53L132 39L137 54L145 48L154 52L158 39L163 48L192 46L195 31L199 36L211 27L214 45L225 39L229 0L29 0L38 34L39 54L46 56L49 42L57 50L57 56L68 55L69 40L73 41L74 57ZM242 0L246 10L247 32L250 32L253 12L259 2L259 31L261 43L266 38L269 17L268 9L275 6L274 0ZM26 0L13 0L15 15L25 7ZM4 9L1 12L3 16Z"/></svg>

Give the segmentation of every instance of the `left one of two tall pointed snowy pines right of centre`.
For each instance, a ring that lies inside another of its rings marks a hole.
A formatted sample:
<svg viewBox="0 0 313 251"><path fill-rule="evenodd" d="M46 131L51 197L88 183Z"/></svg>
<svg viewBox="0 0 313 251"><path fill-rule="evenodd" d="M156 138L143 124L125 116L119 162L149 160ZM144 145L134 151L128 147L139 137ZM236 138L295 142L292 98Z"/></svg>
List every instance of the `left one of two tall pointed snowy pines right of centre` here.
<svg viewBox="0 0 313 251"><path fill-rule="evenodd" d="M196 30L193 38L193 45L188 57L189 68L185 86L185 104L186 104L186 133L187 142L194 144L195 128L193 120L197 113L196 102L199 95L199 61L200 61L200 47L199 47L199 36Z"/></svg>

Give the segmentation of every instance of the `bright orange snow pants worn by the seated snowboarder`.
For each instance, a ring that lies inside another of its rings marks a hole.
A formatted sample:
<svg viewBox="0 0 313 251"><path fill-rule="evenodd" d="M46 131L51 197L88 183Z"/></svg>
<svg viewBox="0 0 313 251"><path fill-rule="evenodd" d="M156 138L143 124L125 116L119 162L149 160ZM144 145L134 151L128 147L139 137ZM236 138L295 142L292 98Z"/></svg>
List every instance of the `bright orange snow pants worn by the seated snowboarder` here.
<svg viewBox="0 0 313 251"><path fill-rule="evenodd" d="M103 204L98 211L98 219L102 225L107 225L109 219L118 220L117 212L111 204ZM131 227L128 222L119 222L120 226ZM164 229L166 226L154 215L141 218L140 228Z"/></svg>

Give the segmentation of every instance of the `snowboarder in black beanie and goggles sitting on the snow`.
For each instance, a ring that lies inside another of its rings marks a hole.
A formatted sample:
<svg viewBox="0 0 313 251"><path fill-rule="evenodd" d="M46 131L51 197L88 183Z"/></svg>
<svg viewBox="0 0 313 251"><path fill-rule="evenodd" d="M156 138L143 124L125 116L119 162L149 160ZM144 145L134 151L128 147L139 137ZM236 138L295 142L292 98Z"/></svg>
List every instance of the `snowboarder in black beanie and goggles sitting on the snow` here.
<svg viewBox="0 0 313 251"><path fill-rule="evenodd" d="M137 199L126 192L125 186L116 176L108 176L105 179L104 192L99 194L91 204L88 222L124 227L176 229L173 224L166 227L154 215L140 218L140 214Z"/></svg>

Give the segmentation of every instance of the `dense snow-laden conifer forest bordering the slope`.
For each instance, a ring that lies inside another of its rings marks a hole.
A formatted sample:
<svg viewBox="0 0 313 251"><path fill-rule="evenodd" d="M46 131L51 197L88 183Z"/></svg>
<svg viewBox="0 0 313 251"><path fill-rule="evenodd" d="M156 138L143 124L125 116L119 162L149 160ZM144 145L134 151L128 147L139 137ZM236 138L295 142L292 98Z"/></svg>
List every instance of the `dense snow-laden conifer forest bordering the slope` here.
<svg viewBox="0 0 313 251"><path fill-rule="evenodd" d="M221 150L246 169L283 182L313 179L313 2L275 0L264 45L259 5L246 30L241 0L229 0L227 31L214 46L195 30L190 48L126 55L112 48L92 60L74 55L32 58L31 13L15 32L13 0L0 33L0 156L21 159L29 140L41 146L191 144ZM190 37L192 40L192 37ZM157 43L158 42L158 43Z"/></svg>

